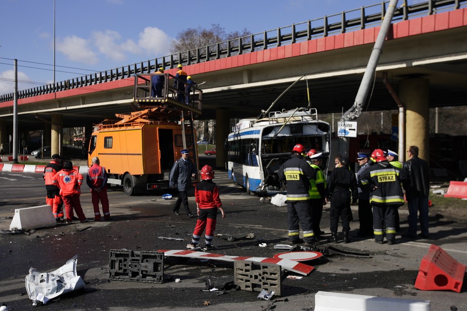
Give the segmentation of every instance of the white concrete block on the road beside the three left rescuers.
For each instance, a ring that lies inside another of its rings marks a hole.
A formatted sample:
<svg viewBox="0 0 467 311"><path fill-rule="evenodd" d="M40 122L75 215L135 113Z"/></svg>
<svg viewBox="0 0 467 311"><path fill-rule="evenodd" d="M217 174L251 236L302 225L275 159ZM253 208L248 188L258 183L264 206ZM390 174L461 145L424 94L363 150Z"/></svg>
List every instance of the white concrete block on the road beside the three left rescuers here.
<svg viewBox="0 0 467 311"><path fill-rule="evenodd" d="M53 227L56 224L57 221L49 205L17 208L10 224L10 230L30 230Z"/></svg>

